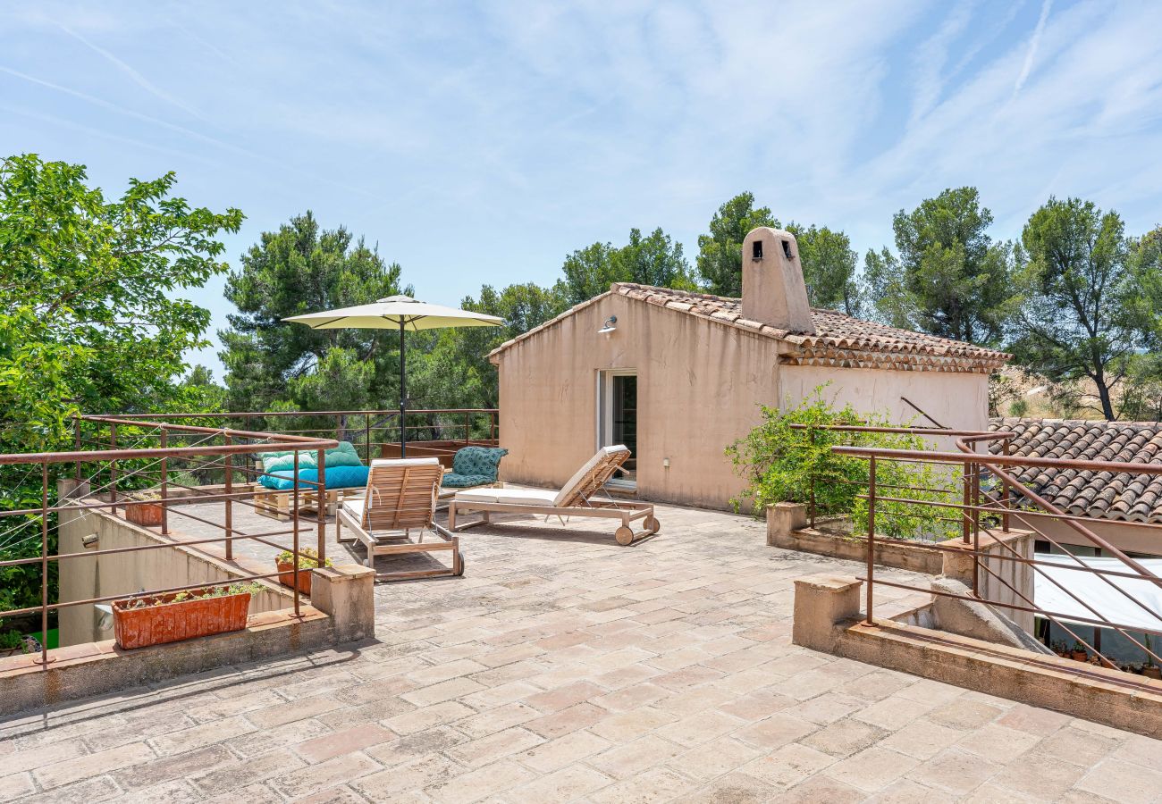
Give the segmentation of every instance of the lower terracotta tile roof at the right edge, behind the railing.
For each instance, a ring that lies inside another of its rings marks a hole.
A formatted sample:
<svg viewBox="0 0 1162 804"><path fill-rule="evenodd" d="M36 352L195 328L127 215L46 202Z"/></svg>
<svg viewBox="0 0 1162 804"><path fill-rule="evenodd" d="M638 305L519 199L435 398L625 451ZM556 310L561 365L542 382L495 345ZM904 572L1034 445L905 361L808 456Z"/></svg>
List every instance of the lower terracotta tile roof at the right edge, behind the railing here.
<svg viewBox="0 0 1162 804"><path fill-rule="evenodd" d="M994 418L989 430L1016 435L1012 453L1038 458L1119 460L1162 466L1162 424ZM1000 442L989 447L1003 448ZM1027 467L1018 479L1070 514L1162 523L1162 475Z"/></svg>

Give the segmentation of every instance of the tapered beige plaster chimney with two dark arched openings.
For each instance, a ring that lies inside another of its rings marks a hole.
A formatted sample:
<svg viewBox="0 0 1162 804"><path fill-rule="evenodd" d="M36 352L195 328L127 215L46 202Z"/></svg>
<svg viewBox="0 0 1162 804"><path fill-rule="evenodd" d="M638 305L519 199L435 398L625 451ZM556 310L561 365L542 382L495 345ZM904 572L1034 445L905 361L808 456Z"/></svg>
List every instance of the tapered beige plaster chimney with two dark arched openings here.
<svg viewBox="0 0 1162 804"><path fill-rule="evenodd" d="M795 236L759 227L743 241L743 317L815 335Z"/></svg>

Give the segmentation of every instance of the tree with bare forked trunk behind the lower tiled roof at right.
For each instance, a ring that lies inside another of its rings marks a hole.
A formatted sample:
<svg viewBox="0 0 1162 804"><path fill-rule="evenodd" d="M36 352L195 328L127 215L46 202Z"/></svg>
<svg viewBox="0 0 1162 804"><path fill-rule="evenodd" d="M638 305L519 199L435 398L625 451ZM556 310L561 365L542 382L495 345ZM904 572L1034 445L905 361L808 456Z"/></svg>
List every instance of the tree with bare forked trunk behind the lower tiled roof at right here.
<svg viewBox="0 0 1162 804"><path fill-rule="evenodd" d="M1054 382L1091 381L1097 409L1116 418L1113 392L1157 326L1156 308L1142 293L1143 282L1155 281L1153 244L1128 241L1114 211L1050 198L1030 217L1021 245L1014 353Z"/></svg>

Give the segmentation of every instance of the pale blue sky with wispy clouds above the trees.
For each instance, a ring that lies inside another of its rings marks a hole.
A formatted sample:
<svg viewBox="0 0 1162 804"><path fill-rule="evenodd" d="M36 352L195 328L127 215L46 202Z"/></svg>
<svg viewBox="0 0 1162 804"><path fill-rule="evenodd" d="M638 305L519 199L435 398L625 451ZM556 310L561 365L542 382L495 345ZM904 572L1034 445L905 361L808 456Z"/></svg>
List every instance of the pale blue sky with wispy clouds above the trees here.
<svg viewBox="0 0 1162 804"><path fill-rule="evenodd" d="M1162 223L1160 2L0 2L0 151L178 193L259 232L306 209L416 295L552 282L569 251L719 203L891 243L975 185ZM223 280L191 296L225 324ZM215 347L192 360L215 368Z"/></svg>

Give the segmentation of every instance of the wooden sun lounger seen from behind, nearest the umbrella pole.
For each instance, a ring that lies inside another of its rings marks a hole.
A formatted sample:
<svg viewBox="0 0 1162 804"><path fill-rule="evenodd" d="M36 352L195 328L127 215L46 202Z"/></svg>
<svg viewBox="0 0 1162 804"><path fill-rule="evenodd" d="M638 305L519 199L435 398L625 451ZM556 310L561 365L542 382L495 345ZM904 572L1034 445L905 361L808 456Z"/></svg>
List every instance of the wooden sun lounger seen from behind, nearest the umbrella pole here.
<svg viewBox="0 0 1162 804"><path fill-rule="evenodd" d="M364 498L344 501L335 518L335 539L344 544L360 541L367 548L365 563L372 568L376 555L452 553L451 568L376 573L376 581L462 575L460 539L433 522L436 493L443 478L444 467L435 458L373 460ZM344 526L354 533L353 538L343 538ZM413 530L418 532L418 541L410 540ZM433 532L438 540L425 543L424 531Z"/></svg>

